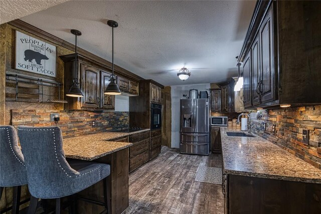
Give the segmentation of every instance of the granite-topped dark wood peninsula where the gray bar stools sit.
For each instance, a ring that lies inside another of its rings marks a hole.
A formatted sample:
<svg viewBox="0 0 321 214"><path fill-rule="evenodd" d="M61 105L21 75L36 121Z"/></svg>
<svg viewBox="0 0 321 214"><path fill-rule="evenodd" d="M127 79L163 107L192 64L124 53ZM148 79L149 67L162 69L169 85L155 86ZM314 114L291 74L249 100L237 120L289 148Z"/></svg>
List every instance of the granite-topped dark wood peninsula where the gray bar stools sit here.
<svg viewBox="0 0 321 214"><path fill-rule="evenodd" d="M129 204L128 176L129 176L129 147L132 143L109 141L128 136L135 132L100 132L64 139L63 148L67 158L93 160L110 164L110 175L107 185L111 198L111 213L122 213ZM103 201L102 180L89 188L79 192L80 195ZM78 201L78 213L100 213L104 207Z"/></svg>

